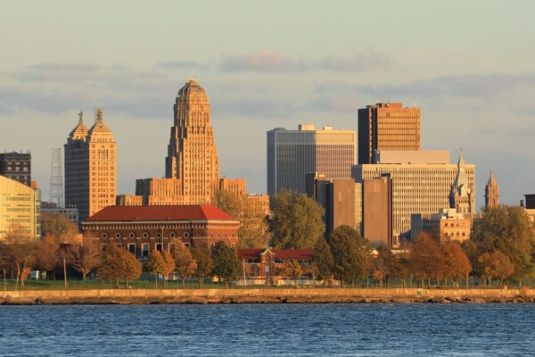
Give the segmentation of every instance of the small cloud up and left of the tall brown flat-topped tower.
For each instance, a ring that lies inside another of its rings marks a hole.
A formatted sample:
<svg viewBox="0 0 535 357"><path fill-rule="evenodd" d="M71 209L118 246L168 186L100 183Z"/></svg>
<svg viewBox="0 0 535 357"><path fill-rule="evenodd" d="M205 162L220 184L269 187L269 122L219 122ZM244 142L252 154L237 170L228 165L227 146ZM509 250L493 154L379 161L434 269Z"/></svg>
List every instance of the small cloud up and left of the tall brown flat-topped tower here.
<svg viewBox="0 0 535 357"><path fill-rule="evenodd" d="M393 60L374 50L350 56L327 56L317 63L317 67L327 71L359 72L388 70L394 64Z"/></svg>

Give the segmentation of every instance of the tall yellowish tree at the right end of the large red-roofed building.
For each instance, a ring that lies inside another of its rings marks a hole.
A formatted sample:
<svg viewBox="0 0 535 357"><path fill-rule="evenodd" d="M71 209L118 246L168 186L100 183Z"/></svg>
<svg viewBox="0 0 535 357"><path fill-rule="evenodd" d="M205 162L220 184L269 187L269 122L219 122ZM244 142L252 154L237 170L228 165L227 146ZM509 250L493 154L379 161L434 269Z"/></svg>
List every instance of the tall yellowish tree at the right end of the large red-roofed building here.
<svg viewBox="0 0 535 357"><path fill-rule="evenodd" d="M268 246L266 215L251 205L251 200L247 195L239 195L229 190L218 190L214 196L214 204L240 221L240 228L238 228L240 248Z"/></svg>

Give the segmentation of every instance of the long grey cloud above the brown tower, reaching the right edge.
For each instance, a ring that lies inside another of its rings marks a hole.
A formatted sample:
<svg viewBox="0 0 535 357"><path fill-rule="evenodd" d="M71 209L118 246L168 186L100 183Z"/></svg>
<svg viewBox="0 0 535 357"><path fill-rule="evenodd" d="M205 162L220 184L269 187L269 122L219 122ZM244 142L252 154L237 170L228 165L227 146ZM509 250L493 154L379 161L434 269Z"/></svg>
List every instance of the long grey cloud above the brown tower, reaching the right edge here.
<svg viewBox="0 0 535 357"><path fill-rule="evenodd" d="M523 86L535 86L535 72L448 75L394 85L358 85L355 89L358 93L375 97L410 95L413 97L458 96L485 99Z"/></svg>

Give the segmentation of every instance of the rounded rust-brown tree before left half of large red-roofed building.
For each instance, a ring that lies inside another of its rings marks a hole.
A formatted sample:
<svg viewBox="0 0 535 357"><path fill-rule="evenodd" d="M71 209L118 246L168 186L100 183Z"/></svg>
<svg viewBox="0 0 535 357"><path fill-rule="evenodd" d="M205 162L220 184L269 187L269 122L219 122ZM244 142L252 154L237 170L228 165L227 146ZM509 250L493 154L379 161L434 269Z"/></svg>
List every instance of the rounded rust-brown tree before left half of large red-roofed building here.
<svg viewBox="0 0 535 357"><path fill-rule="evenodd" d="M136 280L141 275L141 264L134 254L117 247L105 255L98 271L104 279L115 281L117 287L119 287L119 280L122 278L125 287L128 288L128 282Z"/></svg>

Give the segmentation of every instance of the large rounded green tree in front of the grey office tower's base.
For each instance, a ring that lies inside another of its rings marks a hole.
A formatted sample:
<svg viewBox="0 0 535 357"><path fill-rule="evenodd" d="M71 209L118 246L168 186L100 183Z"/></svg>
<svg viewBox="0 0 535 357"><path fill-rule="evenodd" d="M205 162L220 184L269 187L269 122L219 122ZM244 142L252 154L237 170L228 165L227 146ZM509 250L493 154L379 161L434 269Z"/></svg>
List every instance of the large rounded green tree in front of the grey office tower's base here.
<svg viewBox="0 0 535 357"><path fill-rule="evenodd" d="M268 228L276 249L312 249L323 237L325 210L308 195L285 191L274 195Z"/></svg>

